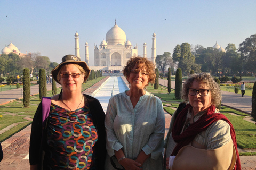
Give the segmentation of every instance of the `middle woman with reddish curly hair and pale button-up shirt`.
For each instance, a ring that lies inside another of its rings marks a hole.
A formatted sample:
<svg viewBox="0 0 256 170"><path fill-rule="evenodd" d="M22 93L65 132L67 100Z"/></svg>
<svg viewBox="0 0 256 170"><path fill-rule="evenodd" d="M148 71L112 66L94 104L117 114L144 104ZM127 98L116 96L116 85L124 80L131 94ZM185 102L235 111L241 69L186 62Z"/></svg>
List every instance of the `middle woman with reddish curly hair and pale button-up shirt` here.
<svg viewBox="0 0 256 170"><path fill-rule="evenodd" d="M163 169L165 116L162 101L145 91L155 83L154 64L132 57L123 71L130 90L110 98L105 128L105 169Z"/></svg>

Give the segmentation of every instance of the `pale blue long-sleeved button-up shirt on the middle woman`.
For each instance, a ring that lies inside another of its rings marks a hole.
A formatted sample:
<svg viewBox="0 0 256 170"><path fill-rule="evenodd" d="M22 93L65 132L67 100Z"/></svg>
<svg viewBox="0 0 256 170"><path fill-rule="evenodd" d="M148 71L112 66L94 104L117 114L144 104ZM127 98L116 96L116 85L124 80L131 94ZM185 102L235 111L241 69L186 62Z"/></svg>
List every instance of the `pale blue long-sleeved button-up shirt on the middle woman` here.
<svg viewBox="0 0 256 170"><path fill-rule="evenodd" d="M123 148L125 156L135 160L143 150L145 154L151 154L143 168L162 169L165 116L160 99L146 92L133 109L130 96L126 92L111 97L105 128L109 158L114 156L114 150ZM106 159L105 168L114 169L111 168L109 158Z"/></svg>

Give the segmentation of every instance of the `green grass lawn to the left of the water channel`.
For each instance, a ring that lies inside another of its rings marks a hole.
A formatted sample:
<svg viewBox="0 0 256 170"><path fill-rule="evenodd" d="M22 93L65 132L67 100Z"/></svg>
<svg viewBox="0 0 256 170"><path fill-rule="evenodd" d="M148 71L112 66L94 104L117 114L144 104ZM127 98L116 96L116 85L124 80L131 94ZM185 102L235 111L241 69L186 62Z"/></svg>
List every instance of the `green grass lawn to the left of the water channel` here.
<svg viewBox="0 0 256 170"><path fill-rule="evenodd" d="M87 88L91 87L93 84L97 83L98 81L105 78L105 76L100 77L98 79L94 79L88 81L87 83L82 84L82 91L86 90ZM57 88L57 94L60 93L61 88ZM48 97L52 96L52 91L47 91ZM10 130L2 133L0 135L0 142L11 137L13 134L21 131L22 129L26 128L29 124L31 124L36 109L39 105L39 94L35 96L30 96L30 105L29 108L23 108L23 99L15 100L11 103L6 105L0 106L0 130L6 128L7 126L17 123L17 126L11 128Z"/></svg>

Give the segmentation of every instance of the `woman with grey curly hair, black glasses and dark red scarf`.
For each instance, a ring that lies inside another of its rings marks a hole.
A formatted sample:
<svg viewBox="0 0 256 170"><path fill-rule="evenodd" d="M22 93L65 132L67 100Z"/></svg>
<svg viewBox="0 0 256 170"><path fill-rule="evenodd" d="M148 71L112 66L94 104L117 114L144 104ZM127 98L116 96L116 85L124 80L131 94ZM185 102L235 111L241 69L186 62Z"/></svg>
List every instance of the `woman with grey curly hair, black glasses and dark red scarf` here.
<svg viewBox="0 0 256 170"><path fill-rule="evenodd" d="M190 75L182 94L188 104L172 116L165 139L166 169L241 169L235 130L216 108L221 90L211 74Z"/></svg>

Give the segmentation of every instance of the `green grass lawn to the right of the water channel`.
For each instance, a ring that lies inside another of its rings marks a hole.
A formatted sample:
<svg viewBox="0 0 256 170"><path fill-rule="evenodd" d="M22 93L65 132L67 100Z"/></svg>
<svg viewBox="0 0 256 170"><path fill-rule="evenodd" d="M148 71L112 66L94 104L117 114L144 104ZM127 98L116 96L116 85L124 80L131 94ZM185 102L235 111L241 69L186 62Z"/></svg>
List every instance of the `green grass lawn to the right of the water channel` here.
<svg viewBox="0 0 256 170"><path fill-rule="evenodd" d="M162 88L162 90L161 90ZM226 87L227 88L227 87ZM179 103L182 100L176 100L174 96L174 92L172 91L170 95L167 93L167 88L164 88L162 86L159 86L158 90L154 89L153 87L148 87L148 90L154 94L155 96L160 97L163 102L163 105L166 106L166 104L171 104L171 107L178 108ZM231 91L231 90L230 90ZM249 91L249 90L247 90ZM173 114L174 110L170 106L164 107L165 111L169 114ZM256 148L256 128L255 124L243 120L245 116L249 116L245 113L236 111L234 109L222 106L220 112L225 115L230 122L233 124L234 129L236 131L236 139L237 139L237 145L239 148L247 149L247 148ZM234 113L237 115L231 115L229 113ZM256 155L255 152L249 152L249 153L241 153L240 155Z"/></svg>

